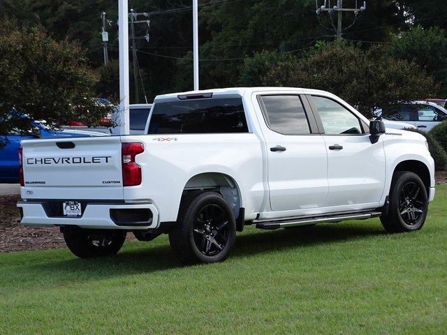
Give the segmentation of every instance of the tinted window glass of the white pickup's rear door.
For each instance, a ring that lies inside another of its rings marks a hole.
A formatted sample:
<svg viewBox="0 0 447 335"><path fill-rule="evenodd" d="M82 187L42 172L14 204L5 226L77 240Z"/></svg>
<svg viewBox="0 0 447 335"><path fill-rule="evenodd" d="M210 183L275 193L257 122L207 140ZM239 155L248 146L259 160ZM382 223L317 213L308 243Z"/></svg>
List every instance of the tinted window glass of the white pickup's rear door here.
<svg viewBox="0 0 447 335"><path fill-rule="evenodd" d="M309 134L304 107L299 96L262 96L264 117L272 131L285 135Z"/></svg>

